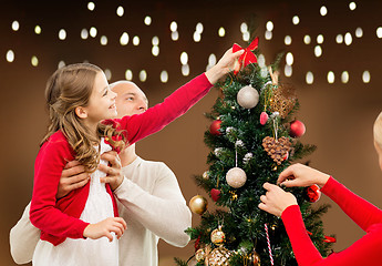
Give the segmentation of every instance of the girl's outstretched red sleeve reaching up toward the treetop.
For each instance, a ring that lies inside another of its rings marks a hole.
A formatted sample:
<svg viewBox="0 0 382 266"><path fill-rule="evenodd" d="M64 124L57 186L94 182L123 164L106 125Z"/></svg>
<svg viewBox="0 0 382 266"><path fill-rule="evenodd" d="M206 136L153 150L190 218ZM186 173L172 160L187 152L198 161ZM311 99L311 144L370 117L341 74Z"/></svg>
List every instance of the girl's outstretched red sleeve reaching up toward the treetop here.
<svg viewBox="0 0 382 266"><path fill-rule="evenodd" d="M124 116L115 120L122 130L126 130L130 144L161 131L175 119L187 112L196 102L205 96L213 85L205 74L200 74L177 89L163 103L149 108L142 114Z"/></svg>

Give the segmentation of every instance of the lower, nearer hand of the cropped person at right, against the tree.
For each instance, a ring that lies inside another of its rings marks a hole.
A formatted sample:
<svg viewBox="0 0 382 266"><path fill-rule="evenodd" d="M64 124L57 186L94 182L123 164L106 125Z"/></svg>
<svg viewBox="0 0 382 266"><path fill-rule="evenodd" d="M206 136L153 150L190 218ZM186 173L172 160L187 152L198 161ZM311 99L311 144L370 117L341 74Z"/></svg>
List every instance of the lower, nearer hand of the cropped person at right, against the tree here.
<svg viewBox="0 0 382 266"><path fill-rule="evenodd" d="M265 183L262 187L267 190L266 195L260 196L259 208L262 211L281 217L287 207L297 205L293 194L285 192L281 187L269 183Z"/></svg>

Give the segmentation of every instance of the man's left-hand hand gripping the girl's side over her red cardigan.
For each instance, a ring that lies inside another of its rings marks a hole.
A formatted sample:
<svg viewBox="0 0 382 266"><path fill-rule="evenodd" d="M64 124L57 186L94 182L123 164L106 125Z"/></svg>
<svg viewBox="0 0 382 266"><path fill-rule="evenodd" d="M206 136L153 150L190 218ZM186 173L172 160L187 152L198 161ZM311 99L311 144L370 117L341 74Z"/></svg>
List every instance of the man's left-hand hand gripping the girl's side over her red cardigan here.
<svg viewBox="0 0 382 266"><path fill-rule="evenodd" d="M90 180L90 173L78 161L69 162L61 173L56 198L66 196L71 191L84 186Z"/></svg>

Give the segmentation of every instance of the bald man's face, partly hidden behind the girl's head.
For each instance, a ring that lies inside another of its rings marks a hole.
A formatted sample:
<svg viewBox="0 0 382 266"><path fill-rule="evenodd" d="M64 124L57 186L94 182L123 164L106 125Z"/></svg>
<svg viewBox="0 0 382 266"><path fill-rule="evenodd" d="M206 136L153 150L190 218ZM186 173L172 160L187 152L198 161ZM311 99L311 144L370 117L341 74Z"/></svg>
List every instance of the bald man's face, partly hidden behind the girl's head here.
<svg viewBox="0 0 382 266"><path fill-rule="evenodd" d="M117 117L140 114L147 110L148 101L145 93L133 82L120 82L112 90L116 93Z"/></svg>

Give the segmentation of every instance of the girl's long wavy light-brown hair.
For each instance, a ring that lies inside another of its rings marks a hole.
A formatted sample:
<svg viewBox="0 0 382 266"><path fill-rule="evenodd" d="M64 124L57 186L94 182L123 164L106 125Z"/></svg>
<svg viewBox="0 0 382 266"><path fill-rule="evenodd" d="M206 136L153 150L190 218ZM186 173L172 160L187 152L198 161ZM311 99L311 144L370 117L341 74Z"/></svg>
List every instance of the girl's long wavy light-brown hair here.
<svg viewBox="0 0 382 266"><path fill-rule="evenodd" d="M94 64L70 64L56 70L49 79L45 89L50 124L40 145L54 132L61 130L75 152L75 160L89 172L95 171L100 163L100 154L94 145L100 144L101 136L107 137L111 145L120 151L125 145L124 135L112 124L99 123L97 135L94 136L75 114L78 106L87 106L95 75L100 72L102 70Z"/></svg>

